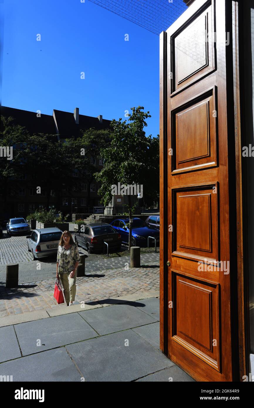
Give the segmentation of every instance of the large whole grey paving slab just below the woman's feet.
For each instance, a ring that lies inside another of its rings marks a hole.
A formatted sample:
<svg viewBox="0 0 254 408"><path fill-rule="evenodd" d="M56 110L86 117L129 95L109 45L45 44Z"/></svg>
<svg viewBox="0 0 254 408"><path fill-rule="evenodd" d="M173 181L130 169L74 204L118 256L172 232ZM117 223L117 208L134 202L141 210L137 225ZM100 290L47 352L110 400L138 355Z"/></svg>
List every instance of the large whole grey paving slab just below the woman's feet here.
<svg viewBox="0 0 254 408"><path fill-rule="evenodd" d="M23 355L38 353L97 336L95 330L78 313L21 323L14 327ZM40 340L40 346L37 345L38 340Z"/></svg>

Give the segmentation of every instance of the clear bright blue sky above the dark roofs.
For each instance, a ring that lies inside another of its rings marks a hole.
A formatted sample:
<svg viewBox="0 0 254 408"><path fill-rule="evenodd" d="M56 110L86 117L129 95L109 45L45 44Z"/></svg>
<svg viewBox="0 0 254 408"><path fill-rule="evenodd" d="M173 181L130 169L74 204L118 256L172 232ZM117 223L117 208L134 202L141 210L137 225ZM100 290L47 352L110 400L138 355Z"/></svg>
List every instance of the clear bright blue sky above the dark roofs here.
<svg viewBox="0 0 254 408"><path fill-rule="evenodd" d="M78 107L109 120L141 105L155 136L159 36L88 0L5 0L2 105L49 115Z"/></svg>

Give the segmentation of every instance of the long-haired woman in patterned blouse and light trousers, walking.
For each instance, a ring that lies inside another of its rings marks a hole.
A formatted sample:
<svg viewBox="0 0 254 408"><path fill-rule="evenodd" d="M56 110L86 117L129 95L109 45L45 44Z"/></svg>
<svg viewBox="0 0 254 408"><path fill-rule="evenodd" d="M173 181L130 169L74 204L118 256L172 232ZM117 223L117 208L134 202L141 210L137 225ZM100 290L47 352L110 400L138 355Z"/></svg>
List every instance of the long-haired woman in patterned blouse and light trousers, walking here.
<svg viewBox="0 0 254 408"><path fill-rule="evenodd" d="M57 251L56 277L60 277L67 306L72 306L76 295L77 266L80 255L71 233L64 231Z"/></svg>

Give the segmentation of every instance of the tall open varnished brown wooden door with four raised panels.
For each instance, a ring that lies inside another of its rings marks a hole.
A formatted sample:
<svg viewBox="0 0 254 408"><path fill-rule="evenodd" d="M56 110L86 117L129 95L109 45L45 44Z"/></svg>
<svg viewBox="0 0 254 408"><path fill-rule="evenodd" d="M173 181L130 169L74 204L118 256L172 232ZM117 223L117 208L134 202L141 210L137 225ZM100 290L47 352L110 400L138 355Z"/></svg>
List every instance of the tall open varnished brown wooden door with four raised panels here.
<svg viewBox="0 0 254 408"><path fill-rule="evenodd" d="M195 0L160 43L161 350L238 380L232 1Z"/></svg>

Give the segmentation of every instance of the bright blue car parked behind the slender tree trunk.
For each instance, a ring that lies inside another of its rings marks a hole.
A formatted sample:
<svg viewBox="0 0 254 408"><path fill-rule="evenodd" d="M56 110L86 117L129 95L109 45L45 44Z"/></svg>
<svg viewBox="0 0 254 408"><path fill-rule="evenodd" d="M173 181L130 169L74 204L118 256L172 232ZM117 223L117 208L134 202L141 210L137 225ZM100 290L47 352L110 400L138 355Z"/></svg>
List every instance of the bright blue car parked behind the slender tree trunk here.
<svg viewBox="0 0 254 408"><path fill-rule="evenodd" d="M129 242L129 229L126 225L128 222L128 218L119 218L110 223L114 230L121 235L122 242L126 242L126 244ZM156 240L159 240L159 231L137 217L133 218L131 235L132 246L147 247L148 237L155 237ZM152 246L154 242L154 239L149 239L149 246Z"/></svg>

